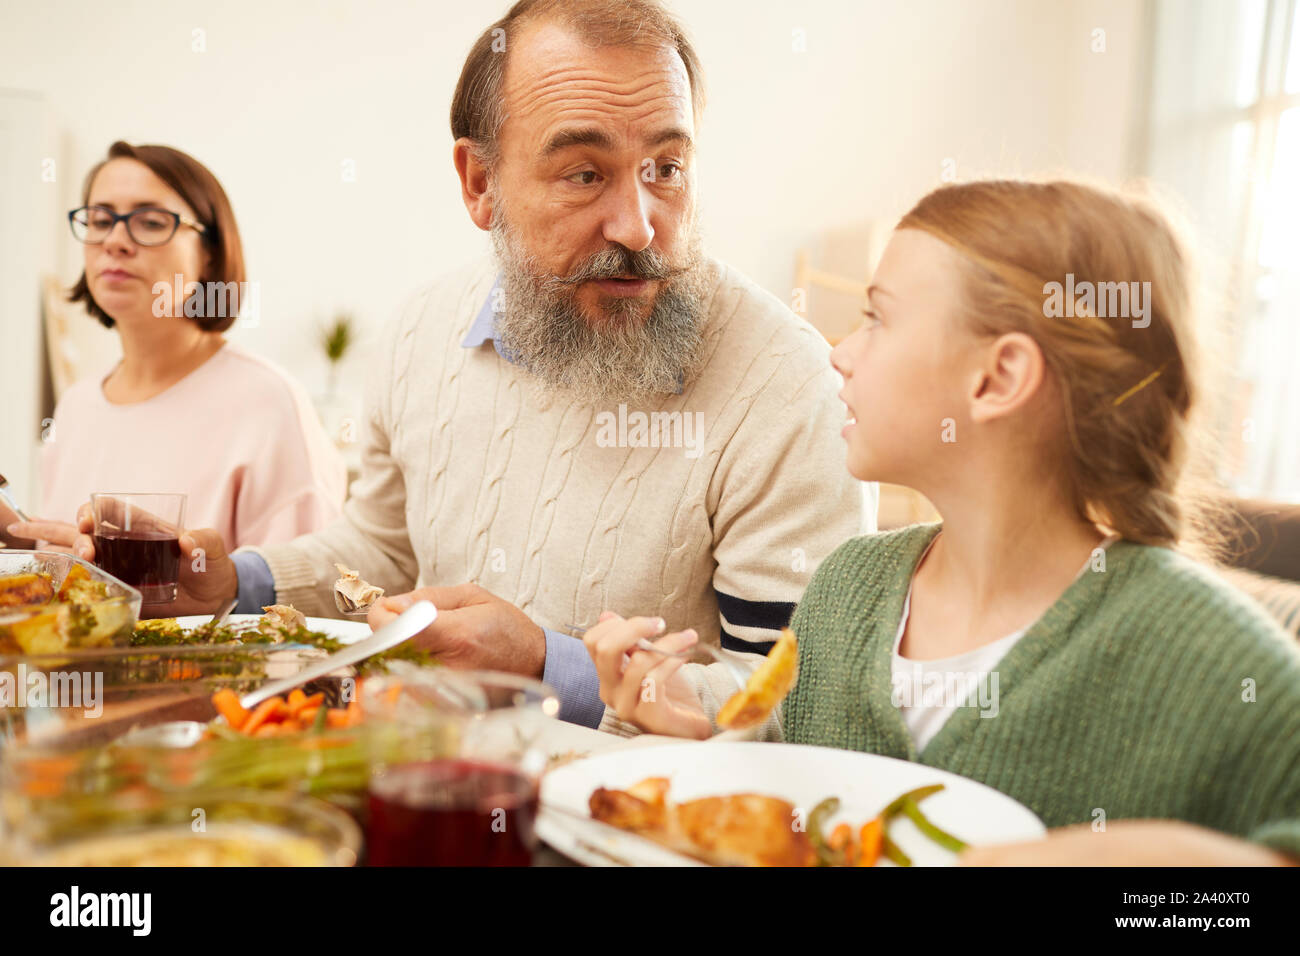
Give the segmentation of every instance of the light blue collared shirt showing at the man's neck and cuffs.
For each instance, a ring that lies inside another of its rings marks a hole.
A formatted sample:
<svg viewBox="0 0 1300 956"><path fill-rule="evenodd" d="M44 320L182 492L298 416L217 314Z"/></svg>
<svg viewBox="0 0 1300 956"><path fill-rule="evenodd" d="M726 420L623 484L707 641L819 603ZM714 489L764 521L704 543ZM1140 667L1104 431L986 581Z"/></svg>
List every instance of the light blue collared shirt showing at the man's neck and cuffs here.
<svg viewBox="0 0 1300 956"><path fill-rule="evenodd" d="M497 354L511 364L519 364L506 352L497 338L495 306L500 300L500 276L493 282L488 300L469 325L460 342L462 349L478 349L491 341ZM239 575L239 614L256 614L264 606L276 604L276 581L270 567L255 551L238 551L231 558ZM601 680L586 646L577 637L542 628L546 633L546 666L542 680L555 688L560 698L560 719L597 727L604 715L601 702Z"/></svg>

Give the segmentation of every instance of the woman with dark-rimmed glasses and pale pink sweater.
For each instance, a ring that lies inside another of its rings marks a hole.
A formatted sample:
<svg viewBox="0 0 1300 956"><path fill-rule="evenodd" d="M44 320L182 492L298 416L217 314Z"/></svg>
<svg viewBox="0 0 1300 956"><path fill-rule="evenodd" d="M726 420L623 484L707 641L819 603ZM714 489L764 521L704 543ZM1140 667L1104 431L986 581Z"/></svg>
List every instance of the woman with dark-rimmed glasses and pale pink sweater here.
<svg viewBox="0 0 1300 956"><path fill-rule="evenodd" d="M222 334L248 286L216 177L178 150L117 142L69 221L84 248L69 299L117 332L122 359L61 397L46 520L10 535L70 548L94 492L183 492L186 524L217 528L228 548L338 516L347 470L306 392Z"/></svg>

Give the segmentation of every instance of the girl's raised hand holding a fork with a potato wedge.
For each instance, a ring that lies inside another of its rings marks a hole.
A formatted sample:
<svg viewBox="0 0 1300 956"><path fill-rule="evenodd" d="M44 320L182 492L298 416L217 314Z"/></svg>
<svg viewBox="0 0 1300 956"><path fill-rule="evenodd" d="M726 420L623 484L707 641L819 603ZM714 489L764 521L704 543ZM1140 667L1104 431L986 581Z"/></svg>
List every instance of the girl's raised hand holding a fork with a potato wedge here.
<svg viewBox="0 0 1300 956"><path fill-rule="evenodd" d="M685 658L636 649L638 640L649 640L663 628L658 618L624 620L614 611L604 611L601 622L582 636L601 678L601 700L619 719L641 730L703 740L712 735L712 727L690 684L677 674ZM677 631L660 637L655 646L679 652L697 640L694 631Z"/></svg>

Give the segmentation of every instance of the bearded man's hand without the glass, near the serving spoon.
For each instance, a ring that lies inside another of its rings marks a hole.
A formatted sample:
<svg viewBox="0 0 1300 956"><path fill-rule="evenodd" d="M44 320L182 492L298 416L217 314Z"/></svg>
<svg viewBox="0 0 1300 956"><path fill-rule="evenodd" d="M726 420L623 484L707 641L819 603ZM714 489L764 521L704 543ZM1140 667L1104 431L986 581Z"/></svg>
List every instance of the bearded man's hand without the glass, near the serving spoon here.
<svg viewBox="0 0 1300 956"><path fill-rule="evenodd" d="M542 676L546 632L510 601L477 584L416 588L380 598L368 615L370 627L378 631L416 601L432 601L438 619L412 640L445 665Z"/></svg>

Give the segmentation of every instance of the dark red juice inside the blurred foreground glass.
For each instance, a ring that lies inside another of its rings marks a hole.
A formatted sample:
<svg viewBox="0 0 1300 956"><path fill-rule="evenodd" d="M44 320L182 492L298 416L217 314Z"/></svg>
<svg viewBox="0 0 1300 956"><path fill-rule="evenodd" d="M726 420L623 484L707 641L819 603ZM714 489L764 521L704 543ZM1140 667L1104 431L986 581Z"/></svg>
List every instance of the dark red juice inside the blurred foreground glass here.
<svg viewBox="0 0 1300 956"><path fill-rule="evenodd" d="M528 866L537 784L514 767L451 758L370 780L372 866Z"/></svg>

